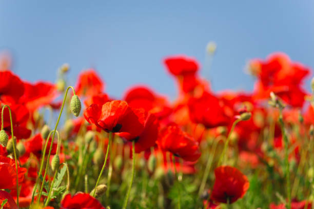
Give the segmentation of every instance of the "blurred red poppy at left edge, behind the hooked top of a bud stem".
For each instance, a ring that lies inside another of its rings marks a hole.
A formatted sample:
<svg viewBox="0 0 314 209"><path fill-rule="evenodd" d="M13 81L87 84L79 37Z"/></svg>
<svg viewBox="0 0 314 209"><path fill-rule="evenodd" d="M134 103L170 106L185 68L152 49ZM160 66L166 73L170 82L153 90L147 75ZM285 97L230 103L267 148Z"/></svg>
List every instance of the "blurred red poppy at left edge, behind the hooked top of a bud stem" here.
<svg viewBox="0 0 314 209"><path fill-rule="evenodd" d="M13 133L17 139L28 138L31 130L26 128L26 122L29 118L29 111L23 105L11 105ZM0 112L0 116L2 112ZM1 122L0 122L1 124ZM4 110L4 130L11 135L11 123L9 109Z"/></svg>

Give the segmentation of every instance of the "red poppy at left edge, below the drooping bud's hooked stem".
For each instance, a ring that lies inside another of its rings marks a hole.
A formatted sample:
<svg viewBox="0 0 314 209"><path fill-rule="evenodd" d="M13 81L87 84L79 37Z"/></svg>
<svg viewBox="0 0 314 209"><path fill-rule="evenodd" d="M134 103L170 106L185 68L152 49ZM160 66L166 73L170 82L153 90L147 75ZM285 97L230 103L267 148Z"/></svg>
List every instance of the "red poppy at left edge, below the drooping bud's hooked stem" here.
<svg viewBox="0 0 314 209"><path fill-rule="evenodd" d="M20 168L18 165L17 171L18 183L21 183L24 180L24 174L27 170ZM5 181L0 181L0 189L14 189L16 186L16 170L13 159L0 156L0 179L5 179Z"/></svg>

